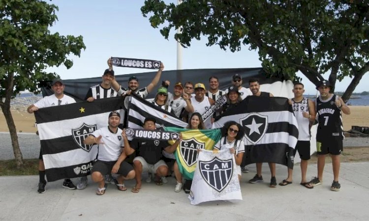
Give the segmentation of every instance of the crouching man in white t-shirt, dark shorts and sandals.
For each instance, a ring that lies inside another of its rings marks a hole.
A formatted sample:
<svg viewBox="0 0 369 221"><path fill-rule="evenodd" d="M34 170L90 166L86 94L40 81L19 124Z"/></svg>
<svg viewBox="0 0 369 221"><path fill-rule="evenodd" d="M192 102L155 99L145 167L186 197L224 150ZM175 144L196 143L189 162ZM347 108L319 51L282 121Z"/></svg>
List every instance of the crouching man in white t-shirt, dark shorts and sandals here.
<svg viewBox="0 0 369 221"><path fill-rule="evenodd" d="M126 191L124 180L133 179L135 171L133 167L124 161L127 157L123 148L123 131L118 128L121 115L117 111L109 114L109 126L94 131L83 143L87 145L98 144L97 161L93 164L91 177L98 184L97 195L105 193L107 184L104 176L117 173L117 188Z"/></svg>

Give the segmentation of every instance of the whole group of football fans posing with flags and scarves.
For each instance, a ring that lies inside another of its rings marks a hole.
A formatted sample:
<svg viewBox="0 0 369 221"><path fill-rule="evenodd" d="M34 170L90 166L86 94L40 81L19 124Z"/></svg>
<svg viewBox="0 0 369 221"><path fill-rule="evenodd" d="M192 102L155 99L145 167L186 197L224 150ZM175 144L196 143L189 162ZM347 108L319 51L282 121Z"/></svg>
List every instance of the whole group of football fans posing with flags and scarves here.
<svg viewBox="0 0 369 221"><path fill-rule="evenodd" d="M104 71L102 82L92 86L86 95L85 100L93 102L95 99L103 99L115 96L128 96L132 93L142 98L146 98L149 93L154 90L161 78L164 65L161 63L159 70L152 82L140 88L139 80L136 77L130 77L128 87L120 85L114 77L114 70L111 60L108 60L109 69ZM163 81L158 88L154 98L154 105L173 113L175 116L188 123L187 129L202 130L207 129L202 119L202 113L207 111L219 98L226 95L227 101L222 107L215 112L211 122L216 121L219 115L230 108L237 108L237 105L246 98L246 96L266 96L273 97L272 93L260 91L260 82L258 79L249 80L249 88L242 86L242 76L236 74L231 79L232 86L226 91L219 90L219 82L216 76L209 79L209 89L203 83L193 84L186 82L184 84L178 82L174 84L173 93L168 92L170 82ZM55 79L52 83L54 94L47 96L28 107L27 111L33 113L40 108L65 105L75 103L75 100L63 94L65 85L61 79ZM317 90L320 96L315 101L311 101L303 96L304 84L295 83L293 88L294 97L289 100L295 113L298 126L299 137L295 148L294 155L299 152L301 157L301 185L312 189L314 186L322 184L323 169L325 157L330 154L332 157L334 181L331 186L332 191L339 191L338 183L339 173L339 154L342 151L342 119L341 112L350 114L350 109L343 100L330 92L331 86L328 81L322 81ZM166 177L174 173L177 185L175 192L182 189L188 192L190 186L184 185L182 174L174 157L174 152L182 140L182 135L173 143L169 144L163 140L148 140L142 138L133 138L129 141L125 134L125 130L119 128L122 112L113 111L109 114L108 126L98 128L84 140L87 145L98 144L99 154L93 164L91 171L91 179L97 183L97 195L105 193L108 182L114 183L118 190L126 191L124 180L135 179L136 185L131 192L138 193L142 187L142 173L148 172L154 179L156 185L166 183ZM124 113L126 114L126 113ZM310 127L317 120L317 154L318 154L318 173L311 181L307 181L307 162L310 159ZM155 118L147 117L144 120L143 128L145 130L156 130ZM208 128L209 129L209 128ZM235 162L239 179L241 173L248 172L247 167L241 167L243 155L245 153L244 129L243 126L235 121L229 121L224 125L225 133L222 138L215 144L215 149L230 149L235 155ZM128 156L134 155L132 162L127 161ZM277 186L276 180L276 164L269 163L271 171L270 187ZM45 166L42 160L42 151L39 155L39 184L38 193L46 191ZM280 186L286 186L292 183L292 169L288 169L288 176ZM111 174L118 174L112 177ZM256 164L256 175L249 180L249 183L263 182L262 163ZM146 182L151 182L151 176ZM81 177L77 186L70 179L65 179L62 186L64 188L75 190L85 189L88 183L87 176ZM190 182L186 182L190 183Z"/></svg>

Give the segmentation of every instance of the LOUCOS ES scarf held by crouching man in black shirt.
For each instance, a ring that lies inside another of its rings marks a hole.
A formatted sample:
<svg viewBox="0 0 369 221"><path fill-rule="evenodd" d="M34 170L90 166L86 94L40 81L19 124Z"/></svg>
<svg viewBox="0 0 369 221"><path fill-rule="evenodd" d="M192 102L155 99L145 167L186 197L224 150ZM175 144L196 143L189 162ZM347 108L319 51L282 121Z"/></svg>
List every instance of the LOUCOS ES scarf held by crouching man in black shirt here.
<svg viewBox="0 0 369 221"><path fill-rule="evenodd" d="M153 140L177 140L180 137L180 133L161 131L161 130L142 130L126 128L125 134L129 139L153 139Z"/></svg>

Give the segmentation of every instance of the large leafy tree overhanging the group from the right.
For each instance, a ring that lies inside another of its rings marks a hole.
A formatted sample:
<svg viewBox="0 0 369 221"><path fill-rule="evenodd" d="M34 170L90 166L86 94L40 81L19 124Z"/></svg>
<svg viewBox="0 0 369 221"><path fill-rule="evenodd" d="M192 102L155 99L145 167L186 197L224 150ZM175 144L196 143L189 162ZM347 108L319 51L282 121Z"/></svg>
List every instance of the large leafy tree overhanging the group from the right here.
<svg viewBox="0 0 369 221"><path fill-rule="evenodd" d="M146 0L141 11L168 39L189 47L205 35L207 46L232 52L258 49L263 68L290 80L301 71L317 85L329 72L332 85L351 77L346 102L369 71L369 0ZM332 88L334 91L334 86Z"/></svg>

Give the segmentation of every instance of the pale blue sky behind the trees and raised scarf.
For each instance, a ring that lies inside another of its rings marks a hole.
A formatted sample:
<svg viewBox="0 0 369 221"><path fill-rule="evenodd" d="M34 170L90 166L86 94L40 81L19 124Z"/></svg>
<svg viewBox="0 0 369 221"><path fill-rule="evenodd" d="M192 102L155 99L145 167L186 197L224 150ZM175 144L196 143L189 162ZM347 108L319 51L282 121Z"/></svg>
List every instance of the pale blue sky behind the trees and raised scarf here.
<svg viewBox="0 0 369 221"><path fill-rule="evenodd" d="M47 1L50 3L50 1ZM166 3L177 0L165 0ZM149 18L143 17L140 8L144 0L52 0L59 7L56 12L58 20L50 28L52 33L62 35L82 35L86 50L81 56L70 56L73 67L64 66L49 68L62 79L80 79L100 77L107 68L106 61L111 56L160 60L164 70L177 69L177 42L173 38L175 30L170 33L169 40L164 39L159 28L150 25ZM182 49L182 68L251 68L261 67L257 51L249 51L242 46L241 51L232 53L223 51L218 46L207 47L207 37L200 41L193 40L189 48ZM149 69L115 67L115 74L132 74L149 72ZM301 73L306 94L316 94L315 86ZM324 75L328 79L328 74ZM367 90L364 82L369 81L365 74L355 92ZM344 91L350 78L336 83L336 91ZM207 84L207 83L206 83Z"/></svg>

